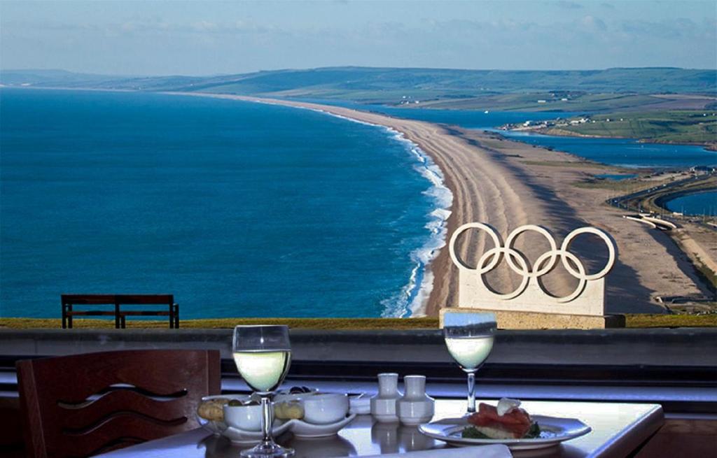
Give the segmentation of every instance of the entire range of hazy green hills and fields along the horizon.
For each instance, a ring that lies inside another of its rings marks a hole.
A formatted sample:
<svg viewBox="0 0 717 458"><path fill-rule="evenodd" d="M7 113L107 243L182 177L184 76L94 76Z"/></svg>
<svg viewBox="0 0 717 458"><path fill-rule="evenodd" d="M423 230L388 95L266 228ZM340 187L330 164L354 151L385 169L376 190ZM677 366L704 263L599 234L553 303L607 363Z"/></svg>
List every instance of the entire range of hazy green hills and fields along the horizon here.
<svg viewBox="0 0 717 458"><path fill-rule="evenodd" d="M212 77L120 77L77 74L62 70L5 70L0 83L8 86L135 89L146 91L217 92L265 97L346 99L399 104L404 100L432 102L435 107L523 107L536 99L579 97L594 109L605 106L603 94L617 94L619 104L647 104L646 94L717 96L717 71L672 67L604 70L460 70L376 67L286 69ZM526 94L531 94L527 96ZM532 94L537 94L534 97ZM610 96L607 99L612 99ZM563 100L565 102L565 100ZM591 105L591 106L593 106ZM557 107L557 105L556 105Z"/></svg>

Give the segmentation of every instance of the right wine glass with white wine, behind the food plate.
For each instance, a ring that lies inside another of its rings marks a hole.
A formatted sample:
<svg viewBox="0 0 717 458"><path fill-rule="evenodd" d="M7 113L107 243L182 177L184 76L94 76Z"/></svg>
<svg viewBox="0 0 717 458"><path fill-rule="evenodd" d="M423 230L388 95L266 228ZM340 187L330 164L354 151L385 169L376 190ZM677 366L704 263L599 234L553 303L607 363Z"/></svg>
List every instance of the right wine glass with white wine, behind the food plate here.
<svg viewBox="0 0 717 458"><path fill-rule="evenodd" d="M468 413L475 412L475 371L493 349L495 333L493 313L446 311L443 316L443 335L448 353L468 374Z"/></svg>

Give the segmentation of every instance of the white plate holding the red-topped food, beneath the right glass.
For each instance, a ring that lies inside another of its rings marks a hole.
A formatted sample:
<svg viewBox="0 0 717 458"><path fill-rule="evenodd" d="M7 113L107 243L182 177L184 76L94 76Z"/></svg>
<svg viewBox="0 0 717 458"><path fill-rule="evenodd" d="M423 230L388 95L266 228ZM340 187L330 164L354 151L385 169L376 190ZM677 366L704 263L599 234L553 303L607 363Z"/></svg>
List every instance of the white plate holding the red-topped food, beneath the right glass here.
<svg viewBox="0 0 717 458"><path fill-rule="evenodd" d="M592 428L579 419L558 418L555 416L531 415L533 422L538 423L541 437L535 439L467 439L460 433L468 425L467 418L449 418L437 422L422 424L419 431L428 437L440 439L451 445L467 447L470 445L505 444L511 450L531 450L553 447L570 439L583 436Z"/></svg>

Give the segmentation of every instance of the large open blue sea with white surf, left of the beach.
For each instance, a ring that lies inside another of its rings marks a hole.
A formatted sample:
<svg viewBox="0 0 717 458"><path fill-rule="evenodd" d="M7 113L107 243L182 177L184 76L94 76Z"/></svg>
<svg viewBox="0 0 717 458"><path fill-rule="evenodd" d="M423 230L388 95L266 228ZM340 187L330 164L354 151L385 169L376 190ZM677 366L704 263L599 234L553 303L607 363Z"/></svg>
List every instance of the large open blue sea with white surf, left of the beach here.
<svg viewBox="0 0 717 458"><path fill-rule="evenodd" d="M440 170L304 109L0 91L0 316L173 293L181 318L409 316L445 239Z"/></svg>

